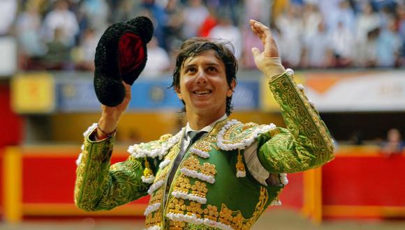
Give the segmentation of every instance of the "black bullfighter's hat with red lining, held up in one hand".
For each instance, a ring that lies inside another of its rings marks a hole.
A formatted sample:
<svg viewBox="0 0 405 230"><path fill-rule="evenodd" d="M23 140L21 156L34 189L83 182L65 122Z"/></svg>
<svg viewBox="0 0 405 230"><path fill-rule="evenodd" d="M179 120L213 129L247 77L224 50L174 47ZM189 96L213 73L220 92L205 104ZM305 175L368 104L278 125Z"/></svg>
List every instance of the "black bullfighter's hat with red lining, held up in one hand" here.
<svg viewBox="0 0 405 230"><path fill-rule="evenodd" d="M125 97L126 84L133 84L145 68L146 44L154 27L147 17L112 24L98 41L94 64L94 90L103 105L114 107Z"/></svg>

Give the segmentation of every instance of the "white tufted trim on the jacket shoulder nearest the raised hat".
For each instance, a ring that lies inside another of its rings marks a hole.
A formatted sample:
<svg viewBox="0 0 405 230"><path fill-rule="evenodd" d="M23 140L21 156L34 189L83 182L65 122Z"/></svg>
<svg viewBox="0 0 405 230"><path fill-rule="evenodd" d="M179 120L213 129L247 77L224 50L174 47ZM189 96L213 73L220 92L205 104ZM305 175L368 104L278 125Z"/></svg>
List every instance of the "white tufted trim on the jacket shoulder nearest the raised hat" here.
<svg viewBox="0 0 405 230"><path fill-rule="evenodd" d="M140 148L141 146L144 146L145 143L140 143L140 144L134 144L133 146L128 147L128 153L131 153L131 155L134 158L156 158L159 157L159 159L162 159L163 156L168 154L168 150L172 148L177 142L179 142L180 138L182 137L184 128L180 130L180 132L177 133L177 135L170 137L168 139L168 142L161 144L160 148L154 148L152 150L146 150L144 148Z"/></svg>

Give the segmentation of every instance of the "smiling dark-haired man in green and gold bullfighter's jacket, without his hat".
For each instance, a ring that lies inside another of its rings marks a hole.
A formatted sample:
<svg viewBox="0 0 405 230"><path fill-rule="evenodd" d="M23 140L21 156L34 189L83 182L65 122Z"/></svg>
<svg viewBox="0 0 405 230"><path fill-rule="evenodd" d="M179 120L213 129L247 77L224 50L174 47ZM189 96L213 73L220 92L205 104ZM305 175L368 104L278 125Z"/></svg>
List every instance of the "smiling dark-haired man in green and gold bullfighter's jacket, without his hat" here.
<svg viewBox="0 0 405 230"><path fill-rule="evenodd" d="M131 100L102 106L97 125L85 132L78 161L76 205L109 210L150 194L147 229L250 229L269 205L280 204L286 173L334 158L318 112L284 70L267 26L250 20L263 43L253 48L256 66L270 79L287 128L230 120L237 61L217 41L192 38L177 56L172 86L188 123L176 135L135 144L131 156L110 166L115 128Z"/></svg>

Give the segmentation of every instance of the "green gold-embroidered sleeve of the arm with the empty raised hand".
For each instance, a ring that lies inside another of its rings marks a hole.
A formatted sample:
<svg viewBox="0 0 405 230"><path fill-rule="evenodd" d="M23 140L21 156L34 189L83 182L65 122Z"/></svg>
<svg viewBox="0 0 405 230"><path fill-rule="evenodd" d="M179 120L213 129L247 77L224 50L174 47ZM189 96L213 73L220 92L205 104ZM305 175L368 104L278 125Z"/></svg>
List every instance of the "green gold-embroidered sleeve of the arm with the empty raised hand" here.
<svg viewBox="0 0 405 230"><path fill-rule="evenodd" d="M269 83L287 126L258 138L258 158L272 173L304 171L334 158L332 137L325 123L298 89L292 75L284 72L272 77Z"/></svg>

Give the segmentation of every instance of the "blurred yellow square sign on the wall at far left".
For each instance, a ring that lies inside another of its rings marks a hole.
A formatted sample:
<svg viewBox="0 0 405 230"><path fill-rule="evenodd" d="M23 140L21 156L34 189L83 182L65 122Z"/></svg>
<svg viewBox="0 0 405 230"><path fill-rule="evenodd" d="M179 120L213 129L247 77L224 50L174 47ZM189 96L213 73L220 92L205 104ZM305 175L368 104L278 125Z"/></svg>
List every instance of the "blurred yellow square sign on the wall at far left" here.
<svg viewBox="0 0 405 230"><path fill-rule="evenodd" d="M55 107L54 79L47 73L13 77L11 105L19 114L49 113Z"/></svg>

